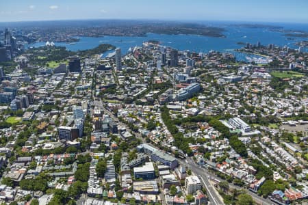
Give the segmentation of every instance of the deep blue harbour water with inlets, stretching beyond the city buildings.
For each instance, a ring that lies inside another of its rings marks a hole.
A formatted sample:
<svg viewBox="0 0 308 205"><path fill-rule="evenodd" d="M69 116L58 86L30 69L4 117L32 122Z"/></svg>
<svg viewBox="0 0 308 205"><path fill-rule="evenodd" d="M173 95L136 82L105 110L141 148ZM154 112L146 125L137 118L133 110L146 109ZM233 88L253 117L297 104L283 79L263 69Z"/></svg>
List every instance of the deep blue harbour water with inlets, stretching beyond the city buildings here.
<svg viewBox="0 0 308 205"><path fill-rule="evenodd" d="M141 46L142 42L147 40L157 40L164 46L170 46L180 51L190 50L197 53L207 53L211 50L228 52L234 49L240 49L243 45L238 44L242 42L244 44L251 43L257 44L261 42L263 45L274 44L277 46L289 46L292 49L298 49L295 45L296 42L307 40L307 38L288 37L285 33L274 31L267 27L239 27L234 25L220 25L225 29L224 36L226 38L214 38L208 36L196 36L196 35L166 35L157 33L148 33L145 37L136 36L104 36L100 38L92 37L79 37L79 42L75 44L55 43L56 46L66 46L70 51L92 49L99 44L112 44L119 47L123 53L126 53L130 47ZM292 25L286 25L286 29L292 29ZM294 25L294 30L307 31L308 25ZM44 46L44 42L36 42L26 46ZM307 51L307 49L305 49ZM103 53L103 57L108 55L112 51ZM236 55L236 53L235 53ZM237 59L242 61L246 60L243 55L237 55Z"/></svg>

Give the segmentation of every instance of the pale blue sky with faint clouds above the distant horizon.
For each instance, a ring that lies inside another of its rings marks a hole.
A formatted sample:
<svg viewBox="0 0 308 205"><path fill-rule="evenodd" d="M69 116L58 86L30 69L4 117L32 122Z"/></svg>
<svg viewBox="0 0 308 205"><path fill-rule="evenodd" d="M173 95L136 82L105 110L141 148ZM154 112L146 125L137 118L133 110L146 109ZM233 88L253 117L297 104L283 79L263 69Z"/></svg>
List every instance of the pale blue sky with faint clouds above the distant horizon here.
<svg viewBox="0 0 308 205"><path fill-rule="evenodd" d="M308 22L308 0L0 0L0 21L90 18Z"/></svg>

